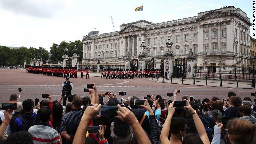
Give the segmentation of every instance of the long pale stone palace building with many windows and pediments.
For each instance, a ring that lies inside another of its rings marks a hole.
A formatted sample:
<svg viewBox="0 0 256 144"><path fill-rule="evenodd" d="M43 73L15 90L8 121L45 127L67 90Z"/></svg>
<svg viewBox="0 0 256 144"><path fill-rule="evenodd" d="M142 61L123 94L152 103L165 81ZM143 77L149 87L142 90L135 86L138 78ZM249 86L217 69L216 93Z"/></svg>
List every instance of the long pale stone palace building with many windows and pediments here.
<svg viewBox="0 0 256 144"><path fill-rule="evenodd" d="M159 68L167 51L168 38L176 58L188 56L190 49L195 63L249 64L250 18L234 6L199 12L197 16L161 23L140 20L120 25L120 31L103 33L91 31L83 37L83 64L119 64L125 59L138 58L144 52L154 58Z"/></svg>

